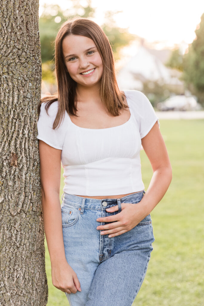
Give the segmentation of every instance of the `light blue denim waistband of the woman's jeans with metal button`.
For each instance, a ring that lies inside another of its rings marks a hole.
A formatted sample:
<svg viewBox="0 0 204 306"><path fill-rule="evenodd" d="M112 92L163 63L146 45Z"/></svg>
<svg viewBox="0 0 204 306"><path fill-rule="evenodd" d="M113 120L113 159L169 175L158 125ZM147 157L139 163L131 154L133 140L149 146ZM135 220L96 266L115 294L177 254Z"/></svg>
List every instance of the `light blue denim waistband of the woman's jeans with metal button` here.
<svg viewBox="0 0 204 306"><path fill-rule="evenodd" d="M93 199L93 198L75 196L73 194L69 194L69 193L64 192L61 196L61 199L64 195L63 203L65 205L67 203L67 204L72 204L76 207L82 207L83 206L84 209L100 209L100 207L106 209L108 207L117 205L119 202L120 203L129 203L128 201L130 201L131 203L133 203L134 201L138 202L142 199L144 193L145 193L145 191L143 190L143 191L140 191L140 192L132 193L128 196L123 196L119 199L110 199L110 198ZM105 202L105 205L107 203L107 205L105 206L103 204L103 202Z"/></svg>

